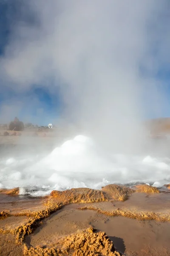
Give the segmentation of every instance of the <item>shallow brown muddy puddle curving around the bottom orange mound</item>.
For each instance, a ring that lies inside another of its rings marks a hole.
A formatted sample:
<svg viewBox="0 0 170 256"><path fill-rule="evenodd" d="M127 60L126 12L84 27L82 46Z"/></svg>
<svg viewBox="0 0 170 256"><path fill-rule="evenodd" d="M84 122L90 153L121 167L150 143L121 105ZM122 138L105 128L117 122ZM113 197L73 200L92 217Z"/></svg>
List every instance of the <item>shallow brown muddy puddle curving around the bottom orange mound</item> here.
<svg viewBox="0 0 170 256"><path fill-rule="evenodd" d="M98 232L105 232L116 249L127 255L144 256L149 250L149 255L159 256L165 249L170 253L169 222L111 217L91 210L79 211L74 205L65 206L42 221L41 227L30 236L26 236L26 243L32 247L53 247L60 237L79 233L79 230L91 226Z"/></svg>

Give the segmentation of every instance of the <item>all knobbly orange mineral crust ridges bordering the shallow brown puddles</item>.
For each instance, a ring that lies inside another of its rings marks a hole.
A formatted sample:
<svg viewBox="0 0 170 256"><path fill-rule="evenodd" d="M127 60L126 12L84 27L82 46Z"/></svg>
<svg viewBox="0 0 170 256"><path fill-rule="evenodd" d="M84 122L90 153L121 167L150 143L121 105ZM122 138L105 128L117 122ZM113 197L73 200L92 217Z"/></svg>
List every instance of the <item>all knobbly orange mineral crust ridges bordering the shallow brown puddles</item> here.
<svg viewBox="0 0 170 256"><path fill-rule="evenodd" d="M12 189L1 193L6 193L9 196L17 196L19 189ZM68 237L61 237L57 239L56 244L51 245L50 248L46 247L28 247L25 243L25 236L31 234L36 227L41 225L42 219L48 217L52 212L61 209L62 206L66 204L89 204L89 203L99 203L107 201L125 201L134 192L144 192L144 193L159 193L159 190L147 185L136 186L135 189L130 189L125 186L118 185L108 185L102 188L102 190L81 188L81 189L70 189L66 191L52 191L51 195L47 199L43 199L43 207L41 210L35 209L31 210L19 210L18 212L12 212L11 210L3 210L0 212L0 216L4 218L14 216L26 216L27 220L19 224L17 227L0 228L0 236L7 237L12 236L15 243L20 244L20 248L24 246L23 253L21 249L19 250L21 254L18 255L120 255L114 249L114 246L110 239L105 233L94 233L90 230L80 231L79 233L70 235ZM96 212L110 215L110 216L123 216L127 218L139 219L139 220L157 220L157 221L170 221L170 214L166 212L139 212L127 209L113 209L110 211L103 210L100 207L95 207L91 205L85 205L79 209L85 210L95 210ZM1 217L2 218L2 217ZM7 221L8 223L8 221ZM15 238L15 239L14 239ZM70 242L69 242L70 240ZM11 241L11 240L10 240ZM2 247L7 248L6 239ZM14 246L15 248L15 246ZM96 251L96 254L94 252ZM86 253L87 252L87 253ZM83 254L84 253L84 254ZM86 253L86 254L85 254ZM4 254L4 255L14 255L14 254ZM17 255L17 254L16 254Z"/></svg>

